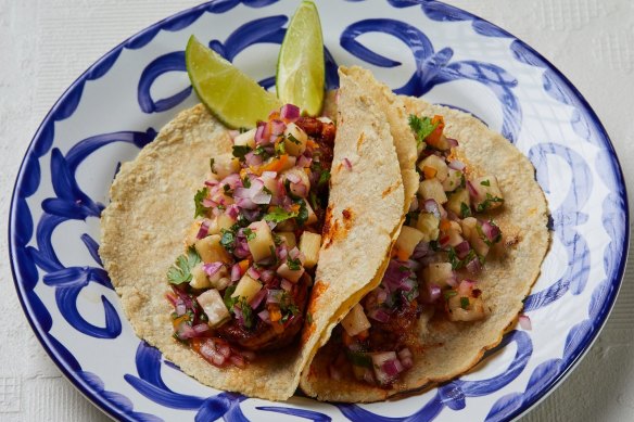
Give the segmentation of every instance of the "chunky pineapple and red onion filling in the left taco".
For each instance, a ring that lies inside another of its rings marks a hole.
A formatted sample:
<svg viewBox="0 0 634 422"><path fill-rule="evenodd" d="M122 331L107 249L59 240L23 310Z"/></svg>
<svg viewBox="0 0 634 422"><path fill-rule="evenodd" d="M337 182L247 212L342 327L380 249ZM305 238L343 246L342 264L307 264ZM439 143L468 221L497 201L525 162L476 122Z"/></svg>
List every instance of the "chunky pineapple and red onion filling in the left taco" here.
<svg viewBox="0 0 634 422"><path fill-rule="evenodd" d="M233 131L194 196L167 272L174 337L217 367L291 343L304 323L328 205L334 124L287 104Z"/></svg>

